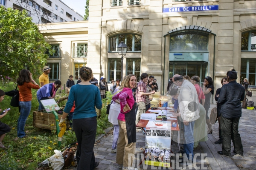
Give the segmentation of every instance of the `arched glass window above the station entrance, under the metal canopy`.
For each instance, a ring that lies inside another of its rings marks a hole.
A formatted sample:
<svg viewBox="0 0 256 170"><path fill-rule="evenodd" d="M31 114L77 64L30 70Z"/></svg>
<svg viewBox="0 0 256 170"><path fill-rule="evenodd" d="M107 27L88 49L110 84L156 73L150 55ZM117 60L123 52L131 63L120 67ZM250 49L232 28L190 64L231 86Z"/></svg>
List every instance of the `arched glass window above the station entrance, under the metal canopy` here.
<svg viewBox="0 0 256 170"><path fill-rule="evenodd" d="M170 51L208 51L208 36L181 34L170 37Z"/></svg>

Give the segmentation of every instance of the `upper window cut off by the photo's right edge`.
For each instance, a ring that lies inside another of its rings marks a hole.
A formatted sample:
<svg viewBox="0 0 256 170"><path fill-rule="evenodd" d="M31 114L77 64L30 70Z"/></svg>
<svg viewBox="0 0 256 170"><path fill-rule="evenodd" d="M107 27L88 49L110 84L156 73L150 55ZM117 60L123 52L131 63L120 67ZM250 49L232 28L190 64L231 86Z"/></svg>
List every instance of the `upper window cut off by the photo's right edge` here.
<svg viewBox="0 0 256 170"><path fill-rule="evenodd" d="M256 30L242 33L241 51L256 51Z"/></svg>

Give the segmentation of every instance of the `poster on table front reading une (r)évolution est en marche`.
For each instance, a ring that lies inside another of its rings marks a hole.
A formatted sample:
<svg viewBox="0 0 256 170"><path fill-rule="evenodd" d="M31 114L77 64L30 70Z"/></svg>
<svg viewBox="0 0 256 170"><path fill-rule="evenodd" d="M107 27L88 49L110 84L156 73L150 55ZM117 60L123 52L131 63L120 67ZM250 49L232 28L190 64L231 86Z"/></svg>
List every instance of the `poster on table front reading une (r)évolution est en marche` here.
<svg viewBox="0 0 256 170"><path fill-rule="evenodd" d="M145 164L170 167L171 129L146 127Z"/></svg>

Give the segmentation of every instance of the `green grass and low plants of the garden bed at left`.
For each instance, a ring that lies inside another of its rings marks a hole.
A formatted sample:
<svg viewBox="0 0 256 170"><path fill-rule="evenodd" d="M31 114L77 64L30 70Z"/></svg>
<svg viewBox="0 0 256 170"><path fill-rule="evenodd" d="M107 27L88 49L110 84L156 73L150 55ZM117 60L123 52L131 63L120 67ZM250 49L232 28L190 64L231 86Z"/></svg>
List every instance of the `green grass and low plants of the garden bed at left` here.
<svg viewBox="0 0 256 170"><path fill-rule="evenodd" d="M10 91L15 88L16 84L13 82L0 85L0 89L3 91ZM3 144L7 149L0 149L0 170L34 170L38 163L52 156L55 149L61 150L68 144L76 142L74 131L66 131L61 142L61 147L59 148L56 130L43 130L33 127L33 111L37 111L39 105L36 98L36 91L32 89L32 108L25 125L25 133L29 136L28 138L14 141L17 137L17 120L20 115L18 108L10 106L11 97L9 96L5 96L3 102L0 103L2 110L11 108L11 111L0 119L1 122L11 127L11 132L7 133L3 139ZM101 116L98 119L97 135L105 133L104 130L111 126L111 123L108 122L108 115L106 114L106 107L110 103L111 98L112 96L108 92L107 98L102 100L103 105ZM62 105L65 105L65 102L60 104L60 106Z"/></svg>

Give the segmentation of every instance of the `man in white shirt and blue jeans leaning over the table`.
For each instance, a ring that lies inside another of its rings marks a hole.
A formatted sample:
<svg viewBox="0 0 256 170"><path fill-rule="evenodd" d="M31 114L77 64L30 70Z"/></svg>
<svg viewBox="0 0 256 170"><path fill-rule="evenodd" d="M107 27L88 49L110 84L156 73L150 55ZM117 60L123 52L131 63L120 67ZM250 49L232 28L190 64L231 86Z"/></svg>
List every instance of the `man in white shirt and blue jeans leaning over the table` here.
<svg viewBox="0 0 256 170"><path fill-rule="evenodd" d="M180 116L184 124L185 143L183 144L184 154L181 162L185 163L186 156L191 163L194 159L194 125L200 112L198 95L195 86L183 79L182 76L176 74L172 80L175 85L180 86L180 93L178 94L179 112L173 113L173 116Z"/></svg>

